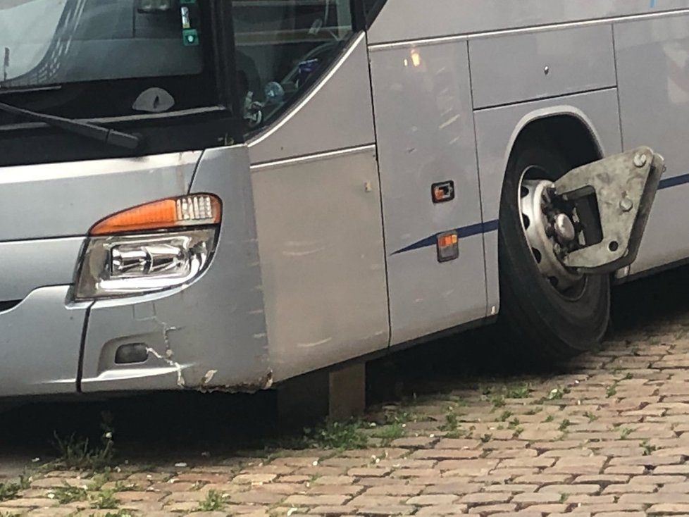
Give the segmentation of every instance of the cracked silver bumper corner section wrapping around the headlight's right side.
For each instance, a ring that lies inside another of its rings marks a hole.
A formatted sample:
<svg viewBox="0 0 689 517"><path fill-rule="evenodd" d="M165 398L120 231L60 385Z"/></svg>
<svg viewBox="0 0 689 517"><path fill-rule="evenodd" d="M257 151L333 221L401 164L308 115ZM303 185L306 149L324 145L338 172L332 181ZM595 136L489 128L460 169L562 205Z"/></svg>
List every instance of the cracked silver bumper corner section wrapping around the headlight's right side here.
<svg viewBox="0 0 689 517"><path fill-rule="evenodd" d="M204 152L192 192L223 199L228 221L209 267L184 287L94 303L85 333L82 392L256 391L271 384L248 171L242 147ZM143 344L146 361L117 364L116 350L123 344Z"/></svg>

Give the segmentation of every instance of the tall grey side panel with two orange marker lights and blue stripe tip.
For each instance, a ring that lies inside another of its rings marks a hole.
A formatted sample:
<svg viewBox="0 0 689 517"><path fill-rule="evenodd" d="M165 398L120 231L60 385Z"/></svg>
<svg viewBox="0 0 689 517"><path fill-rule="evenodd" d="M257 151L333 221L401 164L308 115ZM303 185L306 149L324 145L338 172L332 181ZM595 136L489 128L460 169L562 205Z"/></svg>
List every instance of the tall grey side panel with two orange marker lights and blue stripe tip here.
<svg viewBox="0 0 689 517"><path fill-rule="evenodd" d="M466 42L371 51L392 344L485 316L476 147ZM454 182L433 203L432 185ZM437 235L459 233L440 263Z"/></svg>

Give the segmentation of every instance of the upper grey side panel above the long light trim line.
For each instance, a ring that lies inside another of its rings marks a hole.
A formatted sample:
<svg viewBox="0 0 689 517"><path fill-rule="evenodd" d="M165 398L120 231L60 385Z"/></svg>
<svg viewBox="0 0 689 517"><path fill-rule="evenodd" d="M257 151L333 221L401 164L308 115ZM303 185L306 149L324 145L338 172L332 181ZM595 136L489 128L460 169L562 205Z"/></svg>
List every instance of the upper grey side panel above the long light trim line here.
<svg viewBox="0 0 689 517"><path fill-rule="evenodd" d="M689 0L388 0L369 38L399 42L682 8Z"/></svg>

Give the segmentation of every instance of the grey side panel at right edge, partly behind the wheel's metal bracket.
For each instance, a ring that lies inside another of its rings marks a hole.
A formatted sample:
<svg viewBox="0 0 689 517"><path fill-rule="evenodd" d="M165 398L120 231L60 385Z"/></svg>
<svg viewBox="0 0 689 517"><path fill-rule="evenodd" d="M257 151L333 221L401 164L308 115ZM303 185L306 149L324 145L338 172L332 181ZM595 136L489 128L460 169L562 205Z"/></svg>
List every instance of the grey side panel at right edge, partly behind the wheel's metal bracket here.
<svg viewBox="0 0 689 517"><path fill-rule="evenodd" d="M614 27L624 147L649 145L665 157L662 177L631 273L689 256L689 15Z"/></svg>

